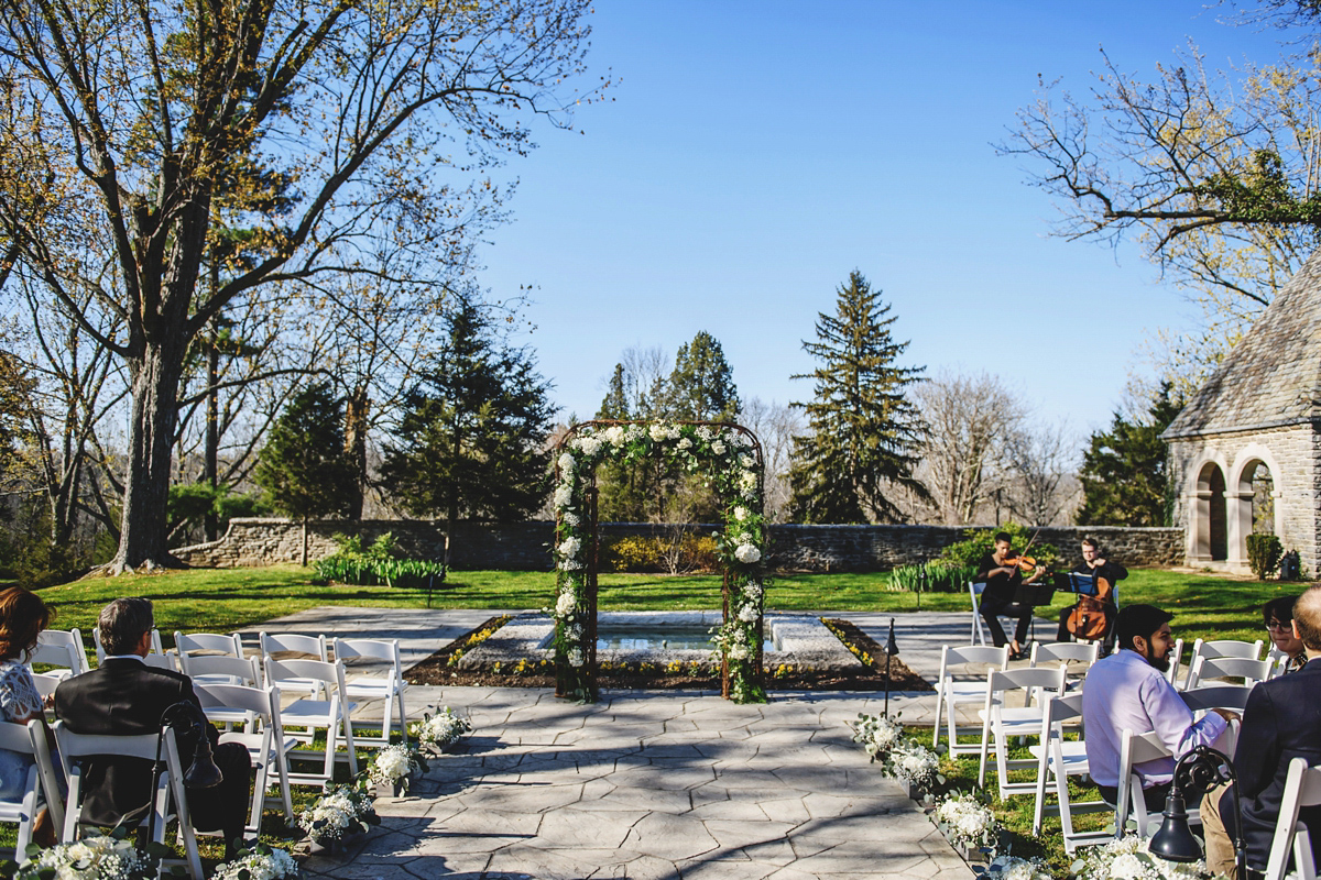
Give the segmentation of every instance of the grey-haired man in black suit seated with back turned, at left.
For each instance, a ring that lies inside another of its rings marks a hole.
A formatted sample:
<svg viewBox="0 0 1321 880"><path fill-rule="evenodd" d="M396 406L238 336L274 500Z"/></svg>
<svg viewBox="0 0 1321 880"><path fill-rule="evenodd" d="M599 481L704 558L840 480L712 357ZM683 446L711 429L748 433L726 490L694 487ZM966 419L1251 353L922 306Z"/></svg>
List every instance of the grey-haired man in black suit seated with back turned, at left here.
<svg viewBox="0 0 1321 880"><path fill-rule="evenodd" d="M55 689L55 714L75 734L132 736L160 731L161 714L178 702L197 703L188 676L156 669L143 662L151 650L152 603L149 599L115 599L96 621L106 660L98 669L61 682ZM201 706L198 706L201 711ZM238 743L217 744L219 734L207 724L215 765L225 774L214 789L189 797L193 826L223 831L226 858L242 843L251 792L252 761ZM197 743L190 732L176 731L185 768ZM98 759L83 772L82 819L114 826L127 814L145 815L151 802L152 764L147 760Z"/></svg>

